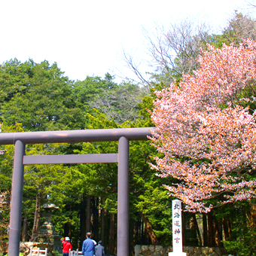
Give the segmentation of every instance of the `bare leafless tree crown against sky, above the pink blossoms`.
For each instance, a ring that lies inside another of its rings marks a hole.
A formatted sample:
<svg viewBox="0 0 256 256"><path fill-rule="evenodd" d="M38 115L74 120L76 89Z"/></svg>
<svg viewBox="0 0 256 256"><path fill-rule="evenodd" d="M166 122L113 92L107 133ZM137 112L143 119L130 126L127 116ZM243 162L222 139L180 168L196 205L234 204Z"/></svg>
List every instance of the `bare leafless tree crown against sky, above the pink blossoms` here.
<svg viewBox="0 0 256 256"><path fill-rule="evenodd" d="M183 20L172 23L167 30L155 26L154 32L144 29L143 33L148 41L151 67L154 72L162 73L168 84L198 68L200 47L209 37L209 28L206 23Z"/></svg>

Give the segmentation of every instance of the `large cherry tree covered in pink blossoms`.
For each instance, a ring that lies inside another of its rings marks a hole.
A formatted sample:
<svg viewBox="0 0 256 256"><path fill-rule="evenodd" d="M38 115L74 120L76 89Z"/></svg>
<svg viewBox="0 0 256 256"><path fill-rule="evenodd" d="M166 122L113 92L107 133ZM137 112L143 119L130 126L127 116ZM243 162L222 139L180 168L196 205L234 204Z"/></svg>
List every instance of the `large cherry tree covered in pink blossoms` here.
<svg viewBox="0 0 256 256"><path fill-rule="evenodd" d="M169 194L190 212L256 197L256 42L208 50L200 69L157 91L151 141Z"/></svg>

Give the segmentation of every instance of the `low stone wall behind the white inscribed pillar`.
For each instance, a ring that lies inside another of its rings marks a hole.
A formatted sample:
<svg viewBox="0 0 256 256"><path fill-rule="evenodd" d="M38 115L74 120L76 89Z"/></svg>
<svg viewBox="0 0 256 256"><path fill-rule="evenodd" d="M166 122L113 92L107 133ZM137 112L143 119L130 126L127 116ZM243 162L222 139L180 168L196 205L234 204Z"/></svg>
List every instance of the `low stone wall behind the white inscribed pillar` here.
<svg viewBox="0 0 256 256"><path fill-rule="evenodd" d="M172 251L172 246L163 247L161 245L136 245L135 256L167 256ZM183 246L183 252L187 256L222 256L221 249L218 247L188 247Z"/></svg>

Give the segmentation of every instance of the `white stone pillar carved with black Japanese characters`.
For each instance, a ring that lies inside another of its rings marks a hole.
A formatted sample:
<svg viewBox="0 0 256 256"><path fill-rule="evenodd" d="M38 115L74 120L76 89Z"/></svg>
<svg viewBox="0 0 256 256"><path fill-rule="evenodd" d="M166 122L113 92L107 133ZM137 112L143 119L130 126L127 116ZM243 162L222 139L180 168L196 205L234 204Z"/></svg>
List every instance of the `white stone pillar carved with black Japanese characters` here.
<svg viewBox="0 0 256 256"><path fill-rule="evenodd" d="M182 252L181 201L172 200L172 252L168 256L186 256Z"/></svg>

